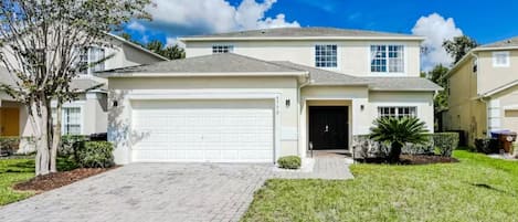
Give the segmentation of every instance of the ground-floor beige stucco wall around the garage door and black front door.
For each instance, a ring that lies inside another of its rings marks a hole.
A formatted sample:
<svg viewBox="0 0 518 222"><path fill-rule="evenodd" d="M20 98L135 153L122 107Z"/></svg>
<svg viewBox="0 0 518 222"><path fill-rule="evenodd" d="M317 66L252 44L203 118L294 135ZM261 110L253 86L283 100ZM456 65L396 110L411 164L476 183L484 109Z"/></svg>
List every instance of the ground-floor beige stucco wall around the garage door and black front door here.
<svg viewBox="0 0 518 222"><path fill-rule="evenodd" d="M146 84L142 84L145 82ZM417 116L433 130L432 92L369 92L367 86L305 86L298 94L296 77L131 77L109 78L108 138L114 141L118 163L130 162L130 147L138 137L131 131L131 101L210 99L219 95L276 95L276 157L306 156L308 107L343 105L349 107L350 141L364 135L378 117L378 106L416 106ZM286 105L286 101L290 105ZM114 102L118 105L113 106Z"/></svg>

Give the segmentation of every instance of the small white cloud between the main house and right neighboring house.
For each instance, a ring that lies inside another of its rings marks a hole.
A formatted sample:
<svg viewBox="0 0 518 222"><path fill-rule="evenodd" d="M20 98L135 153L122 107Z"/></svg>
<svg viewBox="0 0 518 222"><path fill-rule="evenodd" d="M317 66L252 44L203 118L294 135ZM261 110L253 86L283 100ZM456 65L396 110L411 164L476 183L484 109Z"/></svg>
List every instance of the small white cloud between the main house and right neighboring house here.
<svg viewBox="0 0 518 222"><path fill-rule="evenodd" d="M453 59L444 50L443 42L462 35L463 31L455 25L453 18L445 19L437 13L432 13L427 17L421 17L415 22L412 33L426 38L423 42L426 53L422 56L421 65L423 71L430 71L437 64L445 66L452 64Z"/></svg>

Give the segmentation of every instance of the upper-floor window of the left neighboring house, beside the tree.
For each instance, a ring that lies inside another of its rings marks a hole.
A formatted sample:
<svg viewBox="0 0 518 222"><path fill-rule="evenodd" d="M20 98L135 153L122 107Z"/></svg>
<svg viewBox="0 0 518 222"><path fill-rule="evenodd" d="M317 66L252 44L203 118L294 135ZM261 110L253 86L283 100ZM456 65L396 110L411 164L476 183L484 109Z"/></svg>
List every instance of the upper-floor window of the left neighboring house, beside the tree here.
<svg viewBox="0 0 518 222"><path fill-rule="evenodd" d="M105 50L98 46L83 47L80 54L81 74L92 74L105 70Z"/></svg>

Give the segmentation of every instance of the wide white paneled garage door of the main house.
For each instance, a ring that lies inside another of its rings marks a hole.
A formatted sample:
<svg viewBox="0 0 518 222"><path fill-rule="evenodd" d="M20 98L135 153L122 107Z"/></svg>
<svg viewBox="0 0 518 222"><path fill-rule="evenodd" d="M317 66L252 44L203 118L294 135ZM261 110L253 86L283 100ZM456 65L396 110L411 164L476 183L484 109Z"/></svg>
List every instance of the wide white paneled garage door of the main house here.
<svg viewBox="0 0 518 222"><path fill-rule="evenodd" d="M133 161L273 162L273 101L134 101Z"/></svg>

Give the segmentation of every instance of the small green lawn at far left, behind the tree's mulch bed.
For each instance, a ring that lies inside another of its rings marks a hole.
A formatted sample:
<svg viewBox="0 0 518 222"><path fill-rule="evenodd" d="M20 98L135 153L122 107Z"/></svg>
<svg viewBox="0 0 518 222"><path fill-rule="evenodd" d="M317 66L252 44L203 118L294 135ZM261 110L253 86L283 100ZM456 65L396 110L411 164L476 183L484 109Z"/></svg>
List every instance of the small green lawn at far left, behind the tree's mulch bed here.
<svg viewBox="0 0 518 222"><path fill-rule="evenodd" d="M77 166L63 158L57 159L57 169L67 171ZM15 191L12 186L34 177L34 159L1 159L0 160L0 205L23 200L34 194L29 191Z"/></svg>

